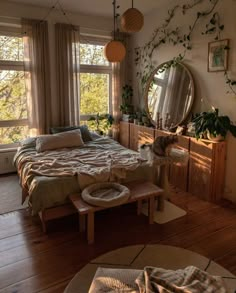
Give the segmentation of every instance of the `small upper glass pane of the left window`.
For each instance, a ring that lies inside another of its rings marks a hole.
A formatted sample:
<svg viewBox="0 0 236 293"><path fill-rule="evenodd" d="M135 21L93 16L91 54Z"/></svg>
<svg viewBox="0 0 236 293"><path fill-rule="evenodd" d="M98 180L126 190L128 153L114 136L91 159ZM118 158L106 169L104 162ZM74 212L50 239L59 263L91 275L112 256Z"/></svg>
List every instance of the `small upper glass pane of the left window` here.
<svg viewBox="0 0 236 293"><path fill-rule="evenodd" d="M21 37L0 36L0 60L23 61Z"/></svg>

